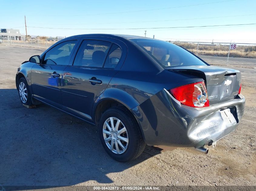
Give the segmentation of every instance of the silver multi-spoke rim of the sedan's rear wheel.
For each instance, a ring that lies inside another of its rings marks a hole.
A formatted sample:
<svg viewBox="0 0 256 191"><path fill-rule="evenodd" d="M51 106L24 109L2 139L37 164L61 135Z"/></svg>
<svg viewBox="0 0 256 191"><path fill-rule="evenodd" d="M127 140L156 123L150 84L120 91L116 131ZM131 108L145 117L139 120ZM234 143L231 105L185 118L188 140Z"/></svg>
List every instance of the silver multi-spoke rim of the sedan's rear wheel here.
<svg viewBox="0 0 256 191"><path fill-rule="evenodd" d="M103 138L108 148L115 154L122 154L128 147L128 132L116 117L109 117L103 125Z"/></svg>

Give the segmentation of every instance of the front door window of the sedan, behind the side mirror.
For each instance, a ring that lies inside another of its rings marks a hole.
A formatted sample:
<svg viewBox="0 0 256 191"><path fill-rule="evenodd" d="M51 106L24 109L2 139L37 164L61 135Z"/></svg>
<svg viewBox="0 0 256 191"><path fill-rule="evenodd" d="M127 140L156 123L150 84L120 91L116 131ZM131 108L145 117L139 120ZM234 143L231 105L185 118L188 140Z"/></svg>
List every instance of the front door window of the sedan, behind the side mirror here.
<svg viewBox="0 0 256 191"><path fill-rule="evenodd" d="M43 64L68 65L76 42L77 40L70 40L53 47L45 54Z"/></svg>

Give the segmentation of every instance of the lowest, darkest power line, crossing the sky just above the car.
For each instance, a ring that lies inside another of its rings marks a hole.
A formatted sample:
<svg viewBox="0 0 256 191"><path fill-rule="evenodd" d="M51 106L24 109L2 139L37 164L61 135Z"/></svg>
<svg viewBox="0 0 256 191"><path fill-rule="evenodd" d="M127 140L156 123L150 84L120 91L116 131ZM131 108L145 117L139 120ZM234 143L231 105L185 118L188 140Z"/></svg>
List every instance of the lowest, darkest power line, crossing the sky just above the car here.
<svg viewBox="0 0 256 191"><path fill-rule="evenodd" d="M54 27L31 27L31 28L46 28L46 29L71 29L71 30L132 30L132 29L171 29L171 28L195 28L195 27L220 27L220 26L241 26L241 25L254 25L250 24L224 24L224 25L204 25L204 26L188 26L188 27L148 27L148 28L54 28ZM28 26L27 26L28 27Z"/></svg>

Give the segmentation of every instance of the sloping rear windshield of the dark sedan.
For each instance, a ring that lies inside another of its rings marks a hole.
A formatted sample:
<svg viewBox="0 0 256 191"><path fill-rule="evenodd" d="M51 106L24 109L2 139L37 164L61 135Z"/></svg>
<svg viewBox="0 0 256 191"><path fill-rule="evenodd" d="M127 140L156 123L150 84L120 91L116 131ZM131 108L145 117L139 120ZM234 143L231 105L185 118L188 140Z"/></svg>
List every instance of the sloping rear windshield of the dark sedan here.
<svg viewBox="0 0 256 191"><path fill-rule="evenodd" d="M175 66L207 65L185 49L154 39L130 39L144 49L163 68Z"/></svg>

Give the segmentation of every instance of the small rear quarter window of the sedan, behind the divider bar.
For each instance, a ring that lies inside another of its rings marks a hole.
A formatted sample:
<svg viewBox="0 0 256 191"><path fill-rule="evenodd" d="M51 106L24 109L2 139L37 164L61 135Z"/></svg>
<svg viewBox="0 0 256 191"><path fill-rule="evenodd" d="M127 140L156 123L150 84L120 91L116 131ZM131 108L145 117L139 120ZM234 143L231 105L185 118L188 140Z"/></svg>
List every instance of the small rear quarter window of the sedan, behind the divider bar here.
<svg viewBox="0 0 256 191"><path fill-rule="evenodd" d="M118 45L113 44L108 53L108 57L105 61L104 68L115 68L121 58L121 55L121 48Z"/></svg>

